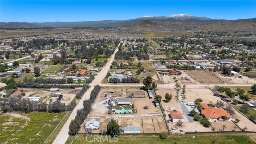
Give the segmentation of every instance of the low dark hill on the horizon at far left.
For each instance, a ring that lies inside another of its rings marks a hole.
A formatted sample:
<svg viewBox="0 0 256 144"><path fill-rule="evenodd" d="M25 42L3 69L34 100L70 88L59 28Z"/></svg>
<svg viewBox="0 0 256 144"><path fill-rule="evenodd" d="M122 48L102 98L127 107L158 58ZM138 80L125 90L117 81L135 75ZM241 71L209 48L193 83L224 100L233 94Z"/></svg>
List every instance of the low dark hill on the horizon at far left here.
<svg viewBox="0 0 256 144"><path fill-rule="evenodd" d="M0 28L40 28L37 24L28 22L0 22Z"/></svg>

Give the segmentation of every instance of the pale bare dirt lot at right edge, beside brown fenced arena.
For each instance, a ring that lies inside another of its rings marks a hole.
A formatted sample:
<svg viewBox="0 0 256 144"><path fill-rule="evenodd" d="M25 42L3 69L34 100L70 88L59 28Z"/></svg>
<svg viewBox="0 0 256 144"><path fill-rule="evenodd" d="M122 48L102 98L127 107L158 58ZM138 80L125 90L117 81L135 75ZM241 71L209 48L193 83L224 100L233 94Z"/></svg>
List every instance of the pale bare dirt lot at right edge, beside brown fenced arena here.
<svg viewBox="0 0 256 144"><path fill-rule="evenodd" d="M216 74L220 79L222 79L225 83L227 84L247 84L247 80L248 80L248 84L255 84L256 80L253 78L249 78L247 76L242 76L242 78L238 78L236 76L222 76L222 74L220 74L219 72L213 72L214 74Z"/></svg>

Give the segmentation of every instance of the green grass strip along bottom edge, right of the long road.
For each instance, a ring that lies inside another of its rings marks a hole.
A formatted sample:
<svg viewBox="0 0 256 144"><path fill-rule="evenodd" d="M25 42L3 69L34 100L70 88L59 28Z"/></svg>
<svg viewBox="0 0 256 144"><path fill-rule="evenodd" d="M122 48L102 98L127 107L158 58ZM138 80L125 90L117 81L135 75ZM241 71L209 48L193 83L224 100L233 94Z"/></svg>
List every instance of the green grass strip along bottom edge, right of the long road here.
<svg viewBox="0 0 256 144"><path fill-rule="evenodd" d="M191 138L196 136L198 138ZM70 137L69 141L72 141ZM88 140L92 140L92 136L88 136ZM109 140L109 137L108 137ZM115 140L112 138L111 140ZM70 142L71 142L70 141ZM183 134L183 135L169 135L167 139L161 139L157 134L144 134L144 135L125 135L118 136L118 142L115 144L214 144L215 141L221 141L217 144L255 144L249 136L245 134ZM78 134L73 144L89 144L100 143L110 144L113 142L87 142L86 135ZM68 144L66 142L66 144Z"/></svg>

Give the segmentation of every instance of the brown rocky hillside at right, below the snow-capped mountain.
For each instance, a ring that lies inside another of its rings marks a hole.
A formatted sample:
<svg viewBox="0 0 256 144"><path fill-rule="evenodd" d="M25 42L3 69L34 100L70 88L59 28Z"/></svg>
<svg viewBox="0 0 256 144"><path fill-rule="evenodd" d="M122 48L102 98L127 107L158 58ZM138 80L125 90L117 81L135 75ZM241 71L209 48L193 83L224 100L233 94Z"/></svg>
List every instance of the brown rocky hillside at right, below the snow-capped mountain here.
<svg viewBox="0 0 256 144"><path fill-rule="evenodd" d="M195 20L197 21L197 20ZM188 31L188 32L242 32L256 34L256 22L151 22L145 20L134 25L123 25L113 31Z"/></svg>

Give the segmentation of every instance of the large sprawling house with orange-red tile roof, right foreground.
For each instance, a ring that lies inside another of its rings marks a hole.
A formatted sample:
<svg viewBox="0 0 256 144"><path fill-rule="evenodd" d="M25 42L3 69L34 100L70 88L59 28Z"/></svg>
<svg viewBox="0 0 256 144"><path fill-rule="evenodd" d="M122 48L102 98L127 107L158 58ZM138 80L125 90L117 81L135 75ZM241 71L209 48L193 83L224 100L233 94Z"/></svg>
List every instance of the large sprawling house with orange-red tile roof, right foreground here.
<svg viewBox="0 0 256 144"><path fill-rule="evenodd" d="M201 115L209 121L221 121L225 116L228 117L227 121L232 120L232 116L223 108L210 108L207 104L201 104L201 106L203 108Z"/></svg>

